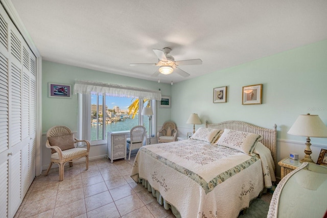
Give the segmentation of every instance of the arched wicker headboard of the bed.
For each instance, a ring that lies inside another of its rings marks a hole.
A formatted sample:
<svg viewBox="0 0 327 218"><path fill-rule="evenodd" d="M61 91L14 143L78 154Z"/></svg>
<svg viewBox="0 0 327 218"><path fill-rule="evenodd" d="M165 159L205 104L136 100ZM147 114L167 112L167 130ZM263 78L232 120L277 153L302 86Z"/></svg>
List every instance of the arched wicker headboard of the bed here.
<svg viewBox="0 0 327 218"><path fill-rule="evenodd" d="M205 121L205 127L207 128L216 128L216 129L232 129L247 133L255 133L262 135L264 139L261 141L266 147L271 151L272 159L275 163L275 169L277 167L277 125L275 124L272 129L264 128L250 123L230 120L224 121L221 123L208 124L208 121Z"/></svg>

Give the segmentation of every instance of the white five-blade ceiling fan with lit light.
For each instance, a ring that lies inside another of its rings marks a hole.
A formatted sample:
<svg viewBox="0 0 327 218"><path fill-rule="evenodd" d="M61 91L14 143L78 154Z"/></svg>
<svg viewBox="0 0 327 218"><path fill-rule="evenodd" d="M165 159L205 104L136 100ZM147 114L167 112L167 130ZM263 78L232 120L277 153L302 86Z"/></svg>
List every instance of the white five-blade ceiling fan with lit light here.
<svg viewBox="0 0 327 218"><path fill-rule="evenodd" d="M178 60L175 61L175 58L171 56L169 53L171 51L170 48L152 49L154 54L159 58L157 63L131 63L130 66L141 66L141 65L151 65L151 66L160 66L160 68L152 75L153 77L158 76L160 73L168 75L175 71L177 74L182 77L188 77L190 74L178 68L178 66L183 65L196 65L202 64L201 59L191 59L191 60Z"/></svg>

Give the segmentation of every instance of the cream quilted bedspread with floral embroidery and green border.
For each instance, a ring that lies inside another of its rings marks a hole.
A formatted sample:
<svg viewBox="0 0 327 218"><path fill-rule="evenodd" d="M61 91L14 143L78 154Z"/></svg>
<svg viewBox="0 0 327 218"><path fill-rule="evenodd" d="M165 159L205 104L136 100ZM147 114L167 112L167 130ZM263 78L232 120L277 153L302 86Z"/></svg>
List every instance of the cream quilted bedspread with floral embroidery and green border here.
<svg viewBox="0 0 327 218"><path fill-rule="evenodd" d="M263 168L258 155L184 140L143 146L131 177L147 180L181 217L237 217L264 188Z"/></svg>

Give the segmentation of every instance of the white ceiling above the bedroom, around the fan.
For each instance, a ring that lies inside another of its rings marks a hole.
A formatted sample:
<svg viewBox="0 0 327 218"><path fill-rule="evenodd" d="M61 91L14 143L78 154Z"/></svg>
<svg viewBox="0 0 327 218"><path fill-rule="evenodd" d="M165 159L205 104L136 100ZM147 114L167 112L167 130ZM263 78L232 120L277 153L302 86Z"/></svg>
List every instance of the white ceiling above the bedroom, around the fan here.
<svg viewBox="0 0 327 218"><path fill-rule="evenodd" d="M194 78L327 39L326 0L12 0L43 60L157 81L169 47ZM186 78L186 79L188 79ZM160 82L185 80L176 73Z"/></svg>

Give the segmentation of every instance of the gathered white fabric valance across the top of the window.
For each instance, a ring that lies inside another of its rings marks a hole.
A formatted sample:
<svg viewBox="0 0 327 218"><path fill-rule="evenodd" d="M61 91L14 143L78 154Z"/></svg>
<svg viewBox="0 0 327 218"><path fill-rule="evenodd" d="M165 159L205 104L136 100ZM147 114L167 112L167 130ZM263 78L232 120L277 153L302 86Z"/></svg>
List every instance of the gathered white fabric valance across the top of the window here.
<svg viewBox="0 0 327 218"><path fill-rule="evenodd" d="M76 81L74 94L103 93L114 97L145 98L161 100L161 92L131 86L107 84L102 82Z"/></svg>

